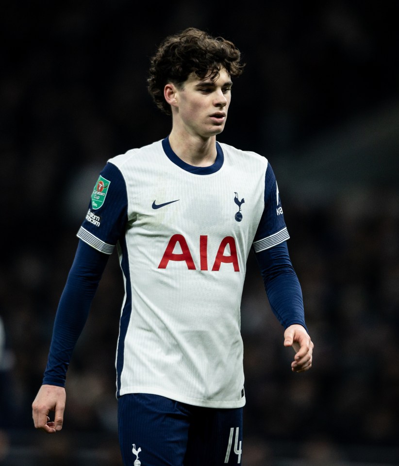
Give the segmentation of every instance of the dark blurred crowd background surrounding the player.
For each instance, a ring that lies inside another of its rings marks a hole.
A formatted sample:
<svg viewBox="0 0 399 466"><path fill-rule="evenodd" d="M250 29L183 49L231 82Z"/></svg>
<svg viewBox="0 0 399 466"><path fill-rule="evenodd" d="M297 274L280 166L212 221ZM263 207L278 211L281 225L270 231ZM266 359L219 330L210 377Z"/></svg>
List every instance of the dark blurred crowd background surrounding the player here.
<svg viewBox="0 0 399 466"><path fill-rule="evenodd" d="M97 175L170 131L146 90L149 58L195 26L247 63L219 140L273 166L315 343L312 370L293 374L251 254L243 465L399 465L397 2L0 8L0 464L121 465L115 255L68 371L62 433L35 431L31 404Z"/></svg>

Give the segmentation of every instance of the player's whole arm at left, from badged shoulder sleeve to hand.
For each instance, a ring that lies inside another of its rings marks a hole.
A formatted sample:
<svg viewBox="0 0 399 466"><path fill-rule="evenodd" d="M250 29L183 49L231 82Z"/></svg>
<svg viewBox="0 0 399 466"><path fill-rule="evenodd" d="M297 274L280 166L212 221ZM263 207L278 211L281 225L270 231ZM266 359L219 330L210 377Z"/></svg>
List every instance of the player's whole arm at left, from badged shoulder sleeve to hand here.
<svg viewBox="0 0 399 466"><path fill-rule="evenodd" d="M103 183L103 199L99 207L95 201L99 199L96 195L99 194L100 181ZM126 221L126 184L119 169L108 163L94 187L89 212L77 233L80 241L55 316L43 385L32 405L37 429L53 433L62 428L66 370L108 257L124 234ZM50 411L55 412L54 422L50 422L48 417Z"/></svg>

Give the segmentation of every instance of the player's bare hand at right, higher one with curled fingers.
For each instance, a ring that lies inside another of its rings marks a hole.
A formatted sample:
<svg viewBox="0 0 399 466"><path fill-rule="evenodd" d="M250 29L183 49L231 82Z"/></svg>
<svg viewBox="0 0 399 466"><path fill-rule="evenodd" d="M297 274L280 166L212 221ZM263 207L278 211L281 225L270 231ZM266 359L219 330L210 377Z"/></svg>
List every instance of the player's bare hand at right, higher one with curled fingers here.
<svg viewBox="0 0 399 466"><path fill-rule="evenodd" d="M292 346L295 351L291 363L293 372L304 372L312 367L313 342L305 328L299 324L287 327L284 332L284 346Z"/></svg>

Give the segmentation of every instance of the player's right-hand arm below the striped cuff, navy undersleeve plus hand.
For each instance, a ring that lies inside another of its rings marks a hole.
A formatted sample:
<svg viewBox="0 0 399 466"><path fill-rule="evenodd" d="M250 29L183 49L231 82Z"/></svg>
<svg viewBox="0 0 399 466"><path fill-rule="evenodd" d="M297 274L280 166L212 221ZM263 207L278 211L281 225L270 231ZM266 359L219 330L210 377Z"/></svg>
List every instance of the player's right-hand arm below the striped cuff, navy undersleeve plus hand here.
<svg viewBox="0 0 399 466"><path fill-rule="evenodd" d="M312 366L314 344L307 332L302 291L284 241L255 254L270 307L283 325L284 346L295 350L291 369L303 372Z"/></svg>

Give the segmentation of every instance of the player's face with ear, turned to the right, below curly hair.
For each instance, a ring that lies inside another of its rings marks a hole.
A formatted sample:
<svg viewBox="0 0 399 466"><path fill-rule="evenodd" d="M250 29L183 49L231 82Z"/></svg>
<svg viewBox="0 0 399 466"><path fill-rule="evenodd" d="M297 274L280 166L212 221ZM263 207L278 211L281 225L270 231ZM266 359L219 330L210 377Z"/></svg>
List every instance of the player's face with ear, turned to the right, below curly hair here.
<svg viewBox="0 0 399 466"><path fill-rule="evenodd" d="M231 89L232 81L224 68L215 81L191 73L181 88L175 87L173 126L202 138L221 133L226 123Z"/></svg>

